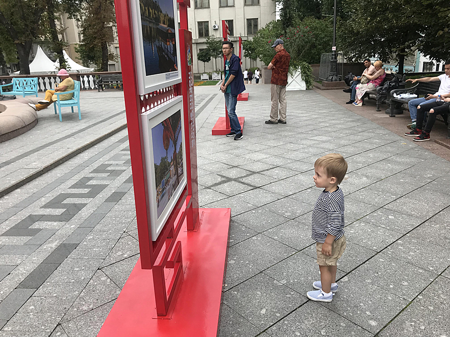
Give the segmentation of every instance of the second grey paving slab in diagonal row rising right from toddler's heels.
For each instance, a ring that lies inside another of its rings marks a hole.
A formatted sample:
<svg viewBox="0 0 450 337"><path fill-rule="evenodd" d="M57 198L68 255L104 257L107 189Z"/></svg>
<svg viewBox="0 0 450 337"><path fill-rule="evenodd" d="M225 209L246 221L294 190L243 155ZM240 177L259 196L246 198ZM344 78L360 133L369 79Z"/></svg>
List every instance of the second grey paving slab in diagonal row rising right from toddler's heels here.
<svg viewBox="0 0 450 337"><path fill-rule="evenodd" d="M380 253L359 266L352 276L412 301L434 280L436 274Z"/></svg>

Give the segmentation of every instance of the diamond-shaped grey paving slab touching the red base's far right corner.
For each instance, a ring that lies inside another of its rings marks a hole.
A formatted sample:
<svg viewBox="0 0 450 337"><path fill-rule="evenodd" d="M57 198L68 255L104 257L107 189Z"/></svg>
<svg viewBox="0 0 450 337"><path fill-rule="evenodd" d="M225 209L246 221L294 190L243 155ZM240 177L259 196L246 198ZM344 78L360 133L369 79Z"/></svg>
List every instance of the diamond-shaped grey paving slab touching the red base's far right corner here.
<svg viewBox="0 0 450 337"><path fill-rule="evenodd" d="M289 219L269 212L263 208L256 208L232 218L234 221L261 233L269 228L282 224Z"/></svg>

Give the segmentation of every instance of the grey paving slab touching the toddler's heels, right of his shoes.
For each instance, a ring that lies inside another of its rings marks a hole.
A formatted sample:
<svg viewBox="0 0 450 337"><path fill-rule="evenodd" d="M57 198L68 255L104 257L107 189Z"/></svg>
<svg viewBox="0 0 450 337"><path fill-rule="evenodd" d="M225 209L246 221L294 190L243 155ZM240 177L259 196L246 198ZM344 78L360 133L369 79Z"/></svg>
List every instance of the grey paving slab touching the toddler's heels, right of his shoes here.
<svg viewBox="0 0 450 337"><path fill-rule="evenodd" d="M339 292L333 301L323 306L375 334L408 303L350 274L339 281Z"/></svg>

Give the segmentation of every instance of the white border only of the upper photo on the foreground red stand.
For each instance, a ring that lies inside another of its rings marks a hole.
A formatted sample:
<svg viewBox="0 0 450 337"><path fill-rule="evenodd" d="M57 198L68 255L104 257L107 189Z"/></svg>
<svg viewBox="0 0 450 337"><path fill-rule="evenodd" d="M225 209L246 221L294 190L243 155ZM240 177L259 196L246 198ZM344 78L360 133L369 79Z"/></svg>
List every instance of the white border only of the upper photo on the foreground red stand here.
<svg viewBox="0 0 450 337"><path fill-rule="evenodd" d="M133 41L134 41L134 61L136 66L137 86L139 95L145 95L150 92L181 83L181 59L179 54L179 34L178 34L178 13L176 8L176 0L173 2L173 16L175 19L175 41L176 41L176 59L178 71L165 72L162 74L146 75L145 73L145 59L143 53L143 37L142 37L142 23L140 20L140 5L139 0L130 0L131 4L131 21L133 27ZM178 73L176 78L166 80L166 74Z"/></svg>

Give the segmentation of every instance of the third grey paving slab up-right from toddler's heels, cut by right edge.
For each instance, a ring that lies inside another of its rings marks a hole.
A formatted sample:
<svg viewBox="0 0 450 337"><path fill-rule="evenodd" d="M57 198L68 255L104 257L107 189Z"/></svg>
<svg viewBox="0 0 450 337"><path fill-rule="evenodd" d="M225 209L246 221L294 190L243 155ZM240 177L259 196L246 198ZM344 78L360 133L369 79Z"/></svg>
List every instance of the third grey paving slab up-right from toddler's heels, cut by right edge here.
<svg viewBox="0 0 450 337"><path fill-rule="evenodd" d="M450 265L448 249L408 235L387 247L384 253L436 274Z"/></svg>

